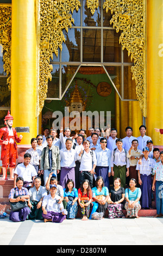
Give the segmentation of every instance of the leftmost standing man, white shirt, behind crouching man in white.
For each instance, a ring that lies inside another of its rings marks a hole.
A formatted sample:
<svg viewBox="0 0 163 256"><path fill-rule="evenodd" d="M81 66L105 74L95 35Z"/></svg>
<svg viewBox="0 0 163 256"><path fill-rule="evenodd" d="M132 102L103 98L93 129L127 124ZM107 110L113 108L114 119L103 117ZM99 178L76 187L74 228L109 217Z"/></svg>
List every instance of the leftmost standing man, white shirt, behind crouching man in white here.
<svg viewBox="0 0 163 256"><path fill-rule="evenodd" d="M40 158L42 151L37 148L36 138L32 138L30 144L32 145L32 148L27 149L26 153L29 153L31 155L30 164L35 167L36 172L38 173L40 169Z"/></svg>

